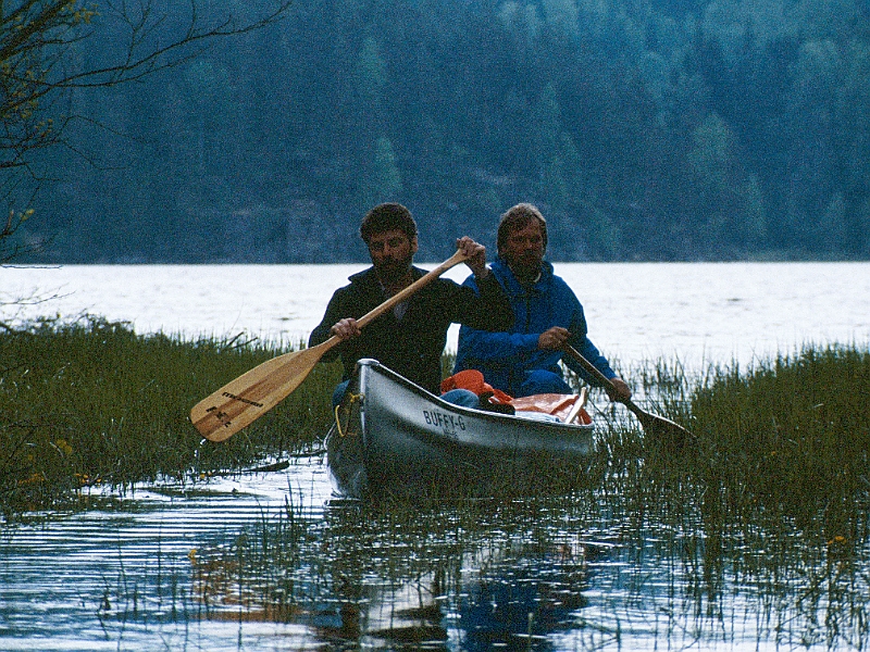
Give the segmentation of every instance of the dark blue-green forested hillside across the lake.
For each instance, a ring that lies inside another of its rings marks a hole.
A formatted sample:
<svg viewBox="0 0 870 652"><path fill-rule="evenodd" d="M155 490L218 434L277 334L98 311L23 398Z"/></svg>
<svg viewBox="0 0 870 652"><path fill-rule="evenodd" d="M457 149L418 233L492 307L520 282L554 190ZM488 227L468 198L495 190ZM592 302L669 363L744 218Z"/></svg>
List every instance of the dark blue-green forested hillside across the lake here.
<svg viewBox="0 0 870 652"><path fill-rule="evenodd" d="M361 262L381 201L423 262L520 201L556 261L870 258L870 0L298 0L53 110L18 262Z"/></svg>

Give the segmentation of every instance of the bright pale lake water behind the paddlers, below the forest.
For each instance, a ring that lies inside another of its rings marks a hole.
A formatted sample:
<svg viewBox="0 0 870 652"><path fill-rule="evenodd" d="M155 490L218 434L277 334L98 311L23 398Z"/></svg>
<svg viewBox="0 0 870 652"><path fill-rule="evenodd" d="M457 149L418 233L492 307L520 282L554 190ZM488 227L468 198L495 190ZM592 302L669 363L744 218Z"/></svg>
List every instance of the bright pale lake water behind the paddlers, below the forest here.
<svg viewBox="0 0 870 652"><path fill-rule="evenodd" d="M0 321L91 312L139 333L297 342L333 290L362 265L94 265L0 268ZM804 343L870 341L870 263L556 265L586 311L589 336L631 364L744 364ZM467 276L464 266L446 275ZM28 297L28 305L13 299ZM44 299L45 301L39 301ZM456 349L456 327L448 348Z"/></svg>

